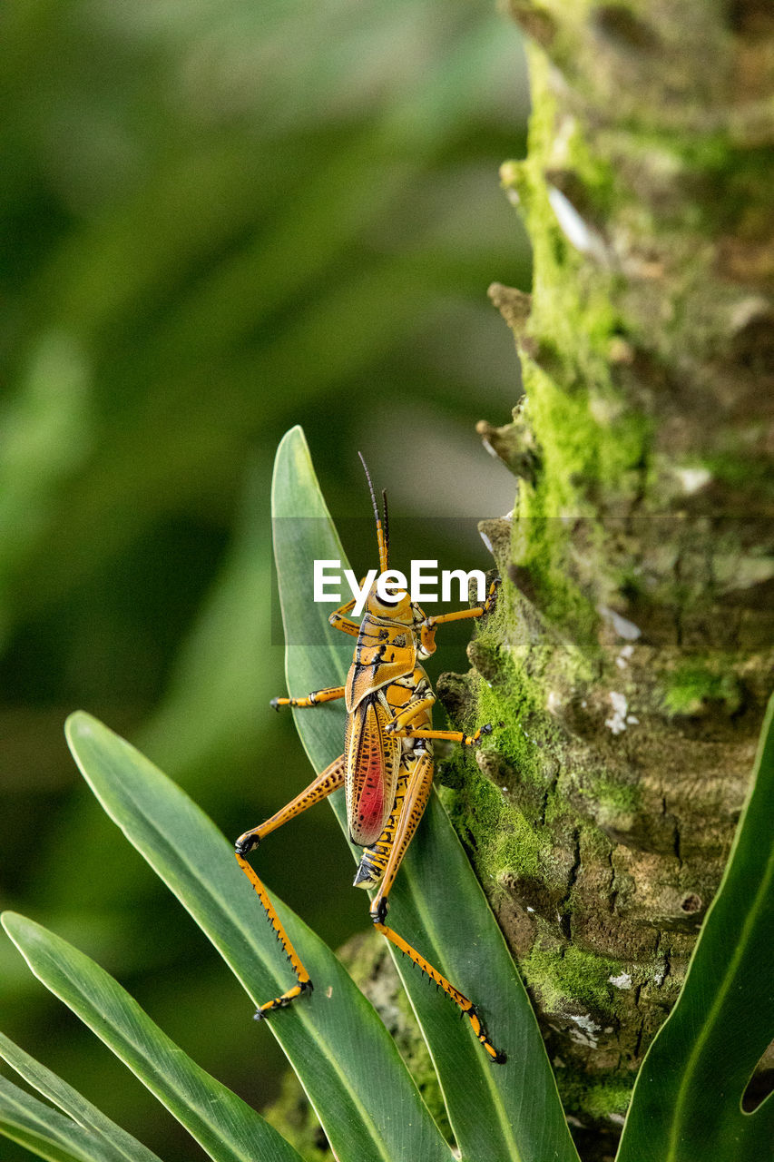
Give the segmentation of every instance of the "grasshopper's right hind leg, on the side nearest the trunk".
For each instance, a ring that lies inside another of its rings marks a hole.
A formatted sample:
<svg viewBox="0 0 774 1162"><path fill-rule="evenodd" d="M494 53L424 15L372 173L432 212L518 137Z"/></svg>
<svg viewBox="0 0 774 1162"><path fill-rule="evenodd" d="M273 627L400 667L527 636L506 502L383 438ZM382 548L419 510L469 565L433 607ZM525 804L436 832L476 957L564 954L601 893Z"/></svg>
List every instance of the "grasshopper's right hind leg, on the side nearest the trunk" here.
<svg viewBox="0 0 774 1162"><path fill-rule="evenodd" d="M386 937L390 944L394 944L396 948L400 948L402 953L413 960L414 963L417 964L423 973L427 973L430 980L433 981L438 988L442 989L446 996L459 1006L463 1014L470 1020L475 1037L483 1046L486 1053L488 1053L490 1060L497 1064L502 1064L506 1061L506 1054L501 1053L492 1043L486 1026L473 1002L470 1000L464 992L460 992L459 989L456 989L454 985L447 981L437 968L433 968L433 966L416 951L416 948L413 948L410 944L397 934L397 932L385 924L387 909L389 906L389 890L397 874L397 869L401 866L408 845L410 844L420 819L424 813L431 787L432 755L425 748L425 744L423 741L418 741L413 752L408 786L406 788L403 802L399 810L397 824L390 845L389 855L386 861L381 887L374 896L371 905L371 919L373 920L374 927L378 932L381 932L381 934Z"/></svg>

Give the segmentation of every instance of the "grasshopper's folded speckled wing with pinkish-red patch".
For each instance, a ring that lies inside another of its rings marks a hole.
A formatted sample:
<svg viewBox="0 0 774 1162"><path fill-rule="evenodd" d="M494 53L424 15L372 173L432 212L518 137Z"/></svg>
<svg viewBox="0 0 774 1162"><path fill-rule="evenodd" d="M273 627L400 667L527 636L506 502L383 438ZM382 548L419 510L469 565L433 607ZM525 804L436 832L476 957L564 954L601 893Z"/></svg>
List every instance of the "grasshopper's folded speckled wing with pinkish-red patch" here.
<svg viewBox="0 0 774 1162"><path fill-rule="evenodd" d="M375 844L395 801L401 741L385 733L392 715L378 693L367 695L346 720L344 758L350 839Z"/></svg>

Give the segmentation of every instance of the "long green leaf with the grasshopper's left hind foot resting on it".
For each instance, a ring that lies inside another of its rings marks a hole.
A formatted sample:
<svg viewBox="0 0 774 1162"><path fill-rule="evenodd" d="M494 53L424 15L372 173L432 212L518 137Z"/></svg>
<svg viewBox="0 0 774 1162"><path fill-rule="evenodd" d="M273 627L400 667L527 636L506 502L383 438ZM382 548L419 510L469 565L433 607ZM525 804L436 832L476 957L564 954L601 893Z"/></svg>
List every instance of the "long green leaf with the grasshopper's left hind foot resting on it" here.
<svg viewBox="0 0 774 1162"><path fill-rule="evenodd" d="M267 712L268 708L267 708ZM72 715L67 739L107 813L188 909L253 1004L293 983L234 847L179 787L101 723ZM275 897L273 897L275 899ZM373 1007L329 948L275 899L317 991L267 1024L342 1162L450 1162L450 1150ZM256 1026L257 1052L259 1031Z"/></svg>

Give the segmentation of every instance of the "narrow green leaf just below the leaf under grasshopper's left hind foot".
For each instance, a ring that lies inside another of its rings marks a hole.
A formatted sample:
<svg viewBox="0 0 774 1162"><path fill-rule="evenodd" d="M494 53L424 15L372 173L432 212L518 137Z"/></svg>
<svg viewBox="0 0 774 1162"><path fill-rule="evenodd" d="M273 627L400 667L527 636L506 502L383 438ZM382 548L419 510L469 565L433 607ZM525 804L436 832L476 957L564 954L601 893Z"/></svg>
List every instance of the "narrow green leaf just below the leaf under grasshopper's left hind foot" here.
<svg viewBox="0 0 774 1162"><path fill-rule="evenodd" d="M5 912L2 925L38 980L109 1046L212 1159L299 1162L268 1122L174 1045L105 969L23 916Z"/></svg>

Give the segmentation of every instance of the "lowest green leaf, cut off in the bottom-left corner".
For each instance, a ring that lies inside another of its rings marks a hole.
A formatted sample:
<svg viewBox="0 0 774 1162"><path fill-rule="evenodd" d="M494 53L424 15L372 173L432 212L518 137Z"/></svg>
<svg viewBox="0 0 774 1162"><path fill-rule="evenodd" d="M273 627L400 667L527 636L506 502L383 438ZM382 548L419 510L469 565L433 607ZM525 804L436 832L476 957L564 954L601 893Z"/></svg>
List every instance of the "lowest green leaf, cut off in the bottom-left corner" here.
<svg viewBox="0 0 774 1162"><path fill-rule="evenodd" d="M50 1162L116 1160L99 1138L6 1077L0 1077L0 1133Z"/></svg>

